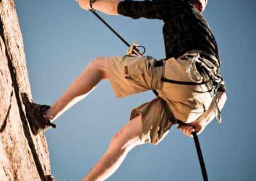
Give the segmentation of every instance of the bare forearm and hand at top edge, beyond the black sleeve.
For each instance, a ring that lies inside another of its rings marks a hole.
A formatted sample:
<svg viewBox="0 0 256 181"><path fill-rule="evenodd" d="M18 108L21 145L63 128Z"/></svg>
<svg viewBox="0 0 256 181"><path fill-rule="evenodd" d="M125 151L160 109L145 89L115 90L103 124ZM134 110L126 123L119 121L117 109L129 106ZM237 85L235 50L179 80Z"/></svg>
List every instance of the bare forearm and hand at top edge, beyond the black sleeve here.
<svg viewBox="0 0 256 181"><path fill-rule="evenodd" d="M120 0L97 0L93 3L93 9L108 15L117 15L117 6ZM77 0L79 6L84 10L91 9L90 0Z"/></svg>

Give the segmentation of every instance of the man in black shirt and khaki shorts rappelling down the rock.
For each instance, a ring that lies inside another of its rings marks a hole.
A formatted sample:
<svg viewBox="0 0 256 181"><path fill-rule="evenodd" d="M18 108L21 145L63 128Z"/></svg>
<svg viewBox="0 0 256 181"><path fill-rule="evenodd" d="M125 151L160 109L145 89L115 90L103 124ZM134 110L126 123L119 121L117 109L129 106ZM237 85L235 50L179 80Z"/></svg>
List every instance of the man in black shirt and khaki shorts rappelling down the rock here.
<svg viewBox="0 0 256 181"><path fill-rule="evenodd" d="M85 98L102 79L109 80L117 98L153 90L157 98L131 112L130 121L110 141L108 150L84 180L106 180L127 153L144 143L157 145L173 124L191 136L202 133L227 99L220 75L220 57L214 36L202 12L207 0L119 1L76 0L84 10L108 15L163 20L166 58L95 58L56 103L26 106L33 134L45 131L52 121Z"/></svg>

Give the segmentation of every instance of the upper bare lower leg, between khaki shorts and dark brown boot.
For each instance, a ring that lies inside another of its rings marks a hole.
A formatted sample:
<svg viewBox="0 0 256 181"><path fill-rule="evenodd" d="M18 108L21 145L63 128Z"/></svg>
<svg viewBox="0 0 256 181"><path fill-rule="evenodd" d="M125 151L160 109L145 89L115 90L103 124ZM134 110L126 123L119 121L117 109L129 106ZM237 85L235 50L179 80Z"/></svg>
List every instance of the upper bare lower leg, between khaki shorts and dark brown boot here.
<svg viewBox="0 0 256 181"><path fill-rule="evenodd" d="M51 120L56 119L61 113L85 98L100 80L108 79L108 61L109 58L99 57L90 62L61 98L45 112L45 116Z"/></svg>

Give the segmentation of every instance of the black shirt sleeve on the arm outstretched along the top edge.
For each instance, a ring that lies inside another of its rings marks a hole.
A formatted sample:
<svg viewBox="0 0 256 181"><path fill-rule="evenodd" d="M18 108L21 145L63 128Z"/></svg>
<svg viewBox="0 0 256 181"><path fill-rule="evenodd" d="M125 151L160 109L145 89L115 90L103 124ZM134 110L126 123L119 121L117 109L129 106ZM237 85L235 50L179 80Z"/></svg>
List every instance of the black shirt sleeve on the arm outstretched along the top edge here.
<svg viewBox="0 0 256 181"><path fill-rule="evenodd" d="M125 17L163 19L168 16L168 3L163 1L131 1L125 0L118 3L118 14Z"/></svg>

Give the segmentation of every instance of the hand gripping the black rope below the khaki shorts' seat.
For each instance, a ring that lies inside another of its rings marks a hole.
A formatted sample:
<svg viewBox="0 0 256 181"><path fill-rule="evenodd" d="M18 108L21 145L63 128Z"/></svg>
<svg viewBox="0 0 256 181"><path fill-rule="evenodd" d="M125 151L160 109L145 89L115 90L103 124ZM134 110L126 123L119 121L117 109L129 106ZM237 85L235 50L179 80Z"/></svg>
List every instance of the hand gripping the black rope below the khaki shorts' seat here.
<svg viewBox="0 0 256 181"><path fill-rule="evenodd" d="M193 132L196 132L196 134L200 134L204 131L205 127L207 126L207 115L209 114L205 112L194 122L191 122L189 124L179 124L177 128L182 131L182 133L184 133L186 136L193 138Z"/></svg>

